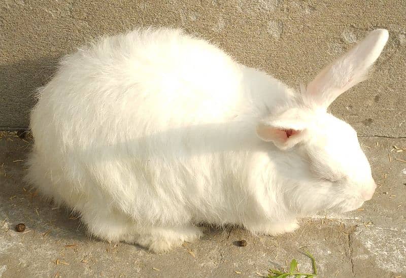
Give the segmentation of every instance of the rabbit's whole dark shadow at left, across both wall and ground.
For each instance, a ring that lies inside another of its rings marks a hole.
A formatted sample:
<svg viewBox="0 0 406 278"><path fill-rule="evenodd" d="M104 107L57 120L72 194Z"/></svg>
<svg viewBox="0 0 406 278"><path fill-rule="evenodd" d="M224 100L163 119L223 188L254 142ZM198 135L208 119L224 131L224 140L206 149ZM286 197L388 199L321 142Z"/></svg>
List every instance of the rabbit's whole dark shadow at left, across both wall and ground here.
<svg viewBox="0 0 406 278"><path fill-rule="evenodd" d="M0 64L0 99L4 104L0 129L26 129L29 112L36 101L36 89L51 79L60 57L46 56ZM11 230L16 224L24 223L25 232L35 231L37 237L44 234L73 239L88 237L85 227L79 219L72 217L69 210L56 209L52 202L24 183L24 163L31 146L32 138L24 135L18 138L8 134L0 138L0 158L4 162L0 163L0 217L5 218L0 223L7 222Z"/></svg>

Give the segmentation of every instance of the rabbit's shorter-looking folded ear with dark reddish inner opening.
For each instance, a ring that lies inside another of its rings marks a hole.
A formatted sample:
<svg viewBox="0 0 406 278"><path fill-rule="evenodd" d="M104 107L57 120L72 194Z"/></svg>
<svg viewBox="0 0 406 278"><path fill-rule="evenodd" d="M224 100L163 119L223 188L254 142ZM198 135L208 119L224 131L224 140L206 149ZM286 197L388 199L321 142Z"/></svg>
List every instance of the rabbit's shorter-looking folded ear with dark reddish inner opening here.
<svg viewBox="0 0 406 278"><path fill-rule="evenodd" d="M263 141L273 142L282 150L289 149L303 140L311 122L309 112L289 109L277 117L269 116L257 125L257 135Z"/></svg>

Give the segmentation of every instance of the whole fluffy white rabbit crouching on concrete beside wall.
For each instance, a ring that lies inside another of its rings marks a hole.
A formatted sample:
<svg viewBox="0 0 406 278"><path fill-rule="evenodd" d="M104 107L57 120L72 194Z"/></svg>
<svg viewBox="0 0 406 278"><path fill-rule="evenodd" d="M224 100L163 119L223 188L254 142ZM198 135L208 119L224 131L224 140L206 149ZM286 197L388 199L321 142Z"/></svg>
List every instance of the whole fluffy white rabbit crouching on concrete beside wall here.
<svg viewBox="0 0 406 278"><path fill-rule="evenodd" d="M155 252L197 239L202 222L277 235L357 209L376 184L356 131L327 107L387 39L370 32L301 94L181 30L100 39L39 89L27 180L92 235Z"/></svg>

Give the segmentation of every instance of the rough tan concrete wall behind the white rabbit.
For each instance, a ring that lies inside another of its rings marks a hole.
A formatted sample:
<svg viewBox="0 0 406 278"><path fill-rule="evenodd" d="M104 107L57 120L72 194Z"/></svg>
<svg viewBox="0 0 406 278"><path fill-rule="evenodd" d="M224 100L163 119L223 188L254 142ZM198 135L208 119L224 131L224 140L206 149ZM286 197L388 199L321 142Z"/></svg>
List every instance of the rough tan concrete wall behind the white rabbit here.
<svg viewBox="0 0 406 278"><path fill-rule="evenodd" d="M372 77L331 110L362 135L406 136L406 3L387 3L2 0L0 128L26 127L33 91L46 83L57 59L100 34L133 26L182 27L297 87L369 30L384 27L390 39Z"/></svg>

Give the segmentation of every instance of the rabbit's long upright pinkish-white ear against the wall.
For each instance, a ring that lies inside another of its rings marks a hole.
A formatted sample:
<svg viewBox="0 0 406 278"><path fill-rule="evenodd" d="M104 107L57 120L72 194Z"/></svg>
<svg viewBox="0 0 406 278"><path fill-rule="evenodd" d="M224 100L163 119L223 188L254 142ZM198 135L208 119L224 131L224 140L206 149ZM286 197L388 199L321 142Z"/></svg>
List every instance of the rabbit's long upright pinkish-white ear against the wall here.
<svg viewBox="0 0 406 278"><path fill-rule="evenodd" d="M388 41L386 29L376 29L353 49L326 66L309 83L303 98L308 105L327 108L343 92L363 81Z"/></svg>

